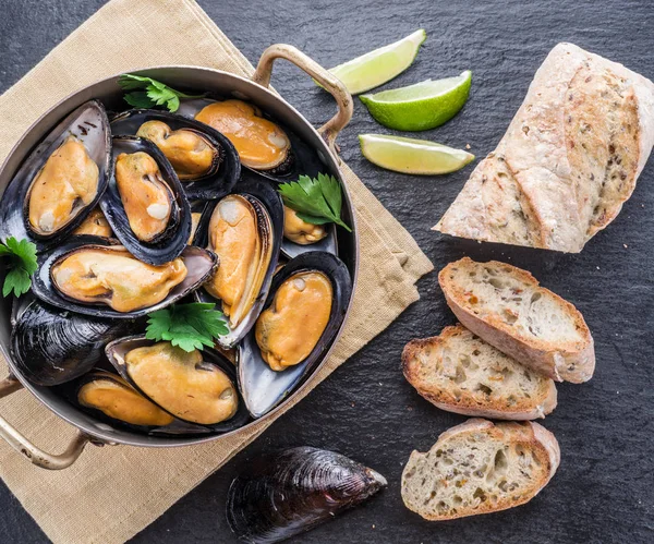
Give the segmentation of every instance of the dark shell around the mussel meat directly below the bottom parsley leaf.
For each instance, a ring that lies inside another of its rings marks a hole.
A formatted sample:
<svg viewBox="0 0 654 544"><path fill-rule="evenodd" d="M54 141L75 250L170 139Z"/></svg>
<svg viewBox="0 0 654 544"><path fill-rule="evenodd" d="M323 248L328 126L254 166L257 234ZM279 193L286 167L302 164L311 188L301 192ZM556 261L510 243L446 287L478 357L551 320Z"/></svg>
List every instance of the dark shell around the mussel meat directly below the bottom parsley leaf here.
<svg viewBox="0 0 654 544"><path fill-rule="evenodd" d="M133 349L142 348L145 346L153 346L155 343L157 342L154 340L148 340L145 338L145 336L142 335L119 338L118 340L114 340L111 343L107 344L107 347L105 348L107 359L109 359L109 362L118 371L122 378L125 379L132 387L134 387L138 392L141 392L148 399L149 397L138 387L138 385L131 378L130 374L128 373L124 358L125 354ZM222 353L215 350L204 349L202 351L202 355L203 364L213 364L220 368L222 372L225 372L225 374L227 374L229 379L234 385L234 389L237 390L237 395L239 396L239 406L234 415L232 415L229 420L221 421L220 423L215 423L213 425L203 425L199 423L185 422L183 420L180 420L181 423L184 423L184 426L182 426L181 428L186 430L182 432L185 432L187 434L189 432L192 432L193 428L208 428L214 433L228 433L230 431L234 431L237 428L242 427L251 421L251 418L247 413L245 402L243 402L243 398L241 397L239 388L237 386L237 372L234 370L234 365ZM152 400L155 404L159 406L159 408L161 408L164 411L168 411L165 407L158 404L155 400Z"/></svg>

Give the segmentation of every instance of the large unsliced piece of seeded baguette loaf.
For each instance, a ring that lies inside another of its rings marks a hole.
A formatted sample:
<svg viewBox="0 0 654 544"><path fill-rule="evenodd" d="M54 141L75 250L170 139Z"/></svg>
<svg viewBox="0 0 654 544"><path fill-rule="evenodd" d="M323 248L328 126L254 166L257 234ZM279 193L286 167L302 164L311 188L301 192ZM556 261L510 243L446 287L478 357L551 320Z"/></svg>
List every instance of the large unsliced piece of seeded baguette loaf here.
<svg viewBox="0 0 654 544"><path fill-rule="evenodd" d="M620 211L654 145L654 84L559 44L435 230L579 252Z"/></svg>

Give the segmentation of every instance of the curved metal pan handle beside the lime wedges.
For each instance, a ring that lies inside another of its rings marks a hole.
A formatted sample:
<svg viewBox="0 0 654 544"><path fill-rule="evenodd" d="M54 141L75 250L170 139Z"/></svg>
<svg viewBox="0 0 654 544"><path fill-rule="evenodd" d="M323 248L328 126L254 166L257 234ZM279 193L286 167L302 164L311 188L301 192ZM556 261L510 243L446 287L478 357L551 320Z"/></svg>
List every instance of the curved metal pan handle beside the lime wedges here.
<svg viewBox="0 0 654 544"><path fill-rule="evenodd" d="M272 63L275 62L275 59L286 59L304 70L325 87L336 100L336 105L338 106L336 116L320 126L318 132L327 142L329 150L331 150L334 156L340 162L337 154L338 147L336 145L336 137L350 122L350 119L352 119L352 95L350 95L346 86L338 77L336 77L336 75L325 70L316 61L310 59L300 51L300 49L287 44L272 45L263 52L254 75L252 76L254 83L258 83L264 87L267 87L270 84L270 75L272 74Z"/></svg>

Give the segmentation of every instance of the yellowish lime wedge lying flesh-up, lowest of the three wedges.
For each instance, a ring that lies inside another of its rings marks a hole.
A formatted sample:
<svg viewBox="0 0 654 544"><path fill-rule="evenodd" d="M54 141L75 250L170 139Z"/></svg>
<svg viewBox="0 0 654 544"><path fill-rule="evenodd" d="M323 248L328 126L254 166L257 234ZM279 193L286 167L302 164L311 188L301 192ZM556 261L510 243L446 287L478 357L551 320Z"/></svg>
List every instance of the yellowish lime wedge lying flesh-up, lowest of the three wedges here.
<svg viewBox="0 0 654 544"><path fill-rule="evenodd" d="M427 176L449 173L474 160L474 155L463 149L453 149L426 140L361 134L359 143L366 159L396 172Z"/></svg>

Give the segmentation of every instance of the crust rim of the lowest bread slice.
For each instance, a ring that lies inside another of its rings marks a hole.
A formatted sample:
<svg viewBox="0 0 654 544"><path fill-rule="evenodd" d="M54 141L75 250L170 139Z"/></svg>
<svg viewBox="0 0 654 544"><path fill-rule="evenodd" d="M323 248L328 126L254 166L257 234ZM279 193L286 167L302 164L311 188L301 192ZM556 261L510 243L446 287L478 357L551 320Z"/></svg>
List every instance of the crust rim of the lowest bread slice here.
<svg viewBox="0 0 654 544"><path fill-rule="evenodd" d="M402 499L407 508L429 521L446 521L468 516L507 510L509 508L529 503L543 489L543 487L549 483L559 467L560 449L556 437L542 425L531 421L522 423L499 422L494 424L488 420L473 418L440 434L436 444L434 444L434 446L432 446L429 449L429 452L435 451L438 448L445 449L446 443L453 437L462 434L474 433L486 433L492 435L495 439L505 442L507 445L519 444L523 447L530 448L533 451L533 456L538 458L538 461L545 466L546 470L544 471L543 476L538 481L534 482L532 493L524 494L518 499L502 496L494 505L486 503L485 506L481 506L474 510L459 510L456 515L431 515L426 511L421 511L420 508L415 508L414 505L407 500L407 497L403 493L408 472L414 464L416 464L420 458L427 455L417 450L413 450L409 457L409 461L407 462L404 470L402 471Z"/></svg>

